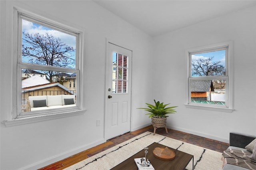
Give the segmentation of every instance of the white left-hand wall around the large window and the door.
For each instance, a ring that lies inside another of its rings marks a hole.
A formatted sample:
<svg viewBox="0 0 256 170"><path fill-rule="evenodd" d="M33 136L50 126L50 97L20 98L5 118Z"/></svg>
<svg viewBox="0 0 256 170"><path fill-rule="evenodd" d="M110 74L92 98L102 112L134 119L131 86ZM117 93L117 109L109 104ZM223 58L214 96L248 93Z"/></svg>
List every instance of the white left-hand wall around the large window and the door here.
<svg viewBox="0 0 256 170"><path fill-rule="evenodd" d="M92 1L0 1L1 3L1 122L10 119L12 92L13 8L57 21L84 33L82 115L6 127L1 126L2 170L36 169L104 142L106 38L133 51L133 90L146 96L144 59L151 54L152 38ZM2 43L4 42L4 43ZM143 69L141 69L143 67ZM15 73L14 73L15 74ZM8 83L7 83L8 82ZM142 89L142 90L141 90ZM134 95L133 102L140 97ZM144 117L144 114L136 115ZM100 126L96 127L96 120ZM145 122L149 120L145 120ZM132 121L132 129L141 122Z"/></svg>

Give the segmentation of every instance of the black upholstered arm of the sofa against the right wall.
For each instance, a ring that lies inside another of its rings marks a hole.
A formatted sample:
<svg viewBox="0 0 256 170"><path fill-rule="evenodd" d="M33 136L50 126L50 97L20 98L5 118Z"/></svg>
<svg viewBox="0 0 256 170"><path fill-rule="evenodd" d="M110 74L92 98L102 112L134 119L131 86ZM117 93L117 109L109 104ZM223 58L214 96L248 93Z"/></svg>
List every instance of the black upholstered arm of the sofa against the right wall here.
<svg viewBox="0 0 256 170"><path fill-rule="evenodd" d="M229 134L229 146L245 148L256 136L231 132Z"/></svg>

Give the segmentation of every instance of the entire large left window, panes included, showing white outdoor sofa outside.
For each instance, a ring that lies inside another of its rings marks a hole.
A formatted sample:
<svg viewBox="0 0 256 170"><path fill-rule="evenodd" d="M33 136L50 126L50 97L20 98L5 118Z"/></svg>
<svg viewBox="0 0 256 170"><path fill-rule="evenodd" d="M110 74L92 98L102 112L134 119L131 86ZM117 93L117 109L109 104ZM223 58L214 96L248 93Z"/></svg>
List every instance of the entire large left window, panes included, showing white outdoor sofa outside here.
<svg viewBox="0 0 256 170"><path fill-rule="evenodd" d="M13 119L78 111L80 33L27 14L18 14L17 107Z"/></svg>

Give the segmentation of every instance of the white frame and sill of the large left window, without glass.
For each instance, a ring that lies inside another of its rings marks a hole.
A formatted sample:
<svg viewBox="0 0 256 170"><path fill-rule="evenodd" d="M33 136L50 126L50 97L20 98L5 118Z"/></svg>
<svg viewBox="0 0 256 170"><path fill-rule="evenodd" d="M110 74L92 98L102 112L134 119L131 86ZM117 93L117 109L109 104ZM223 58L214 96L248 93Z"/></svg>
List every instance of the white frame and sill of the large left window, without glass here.
<svg viewBox="0 0 256 170"><path fill-rule="evenodd" d="M48 28L76 36L76 67L75 69L55 67L48 65L38 65L22 62L22 19L30 22L46 26ZM14 126L16 124L26 124L30 122L37 122L43 120L51 120L60 117L67 117L72 115L83 114L81 106L81 91L80 84L82 82L82 76L80 70L82 70L82 42L83 33L74 28L70 28L66 25L60 24L56 21L49 20L40 17L36 14L30 13L24 10L18 10L14 8L14 32L13 32L13 90L12 90L12 116L10 120L4 121L6 126ZM22 69L35 69L35 70L52 70L61 72L73 72L76 73L77 89L76 89L76 107L65 107L64 109L47 109L42 111L31 111L26 114L21 112L22 104Z"/></svg>

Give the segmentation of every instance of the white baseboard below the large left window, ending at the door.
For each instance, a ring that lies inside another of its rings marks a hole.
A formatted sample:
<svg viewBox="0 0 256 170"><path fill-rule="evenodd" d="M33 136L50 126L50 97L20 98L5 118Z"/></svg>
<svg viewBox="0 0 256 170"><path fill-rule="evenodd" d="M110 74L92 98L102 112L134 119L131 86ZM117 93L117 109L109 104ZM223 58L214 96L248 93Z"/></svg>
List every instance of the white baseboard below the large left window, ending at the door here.
<svg viewBox="0 0 256 170"><path fill-rule="evenodd" d="M72 150L68 150L66 152L63 152L61 154L52 156L50 158L41 160L39 162L35 162L33 164L30 164L28 166L20 168L20 170L39 169L39 168L42 168L42 167L47 166L47 165L50 165L50 164L52 164L54 162L58 162L58 161L60 161L60 160L62 160L64 158L68 158L69 156L72 156L74 154L77 154L79 152L82 152L82 151L84 151L86 149L92 148L92 147L97 146L97 145L102 144L102 143L104 143L104 139L98 140L96 142L92 142L90 144L86 144L86 145L80 146L78 148L74 148Z"/></svg>

